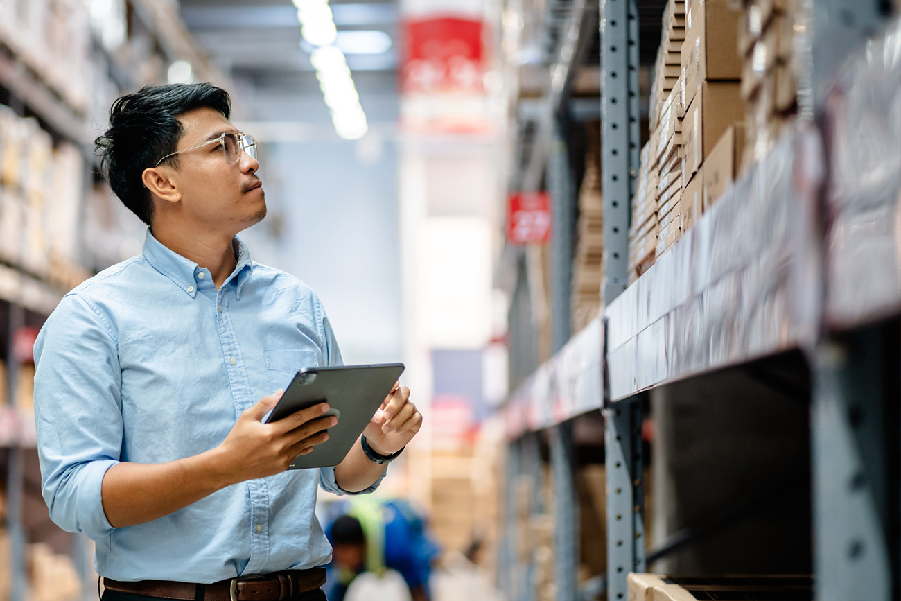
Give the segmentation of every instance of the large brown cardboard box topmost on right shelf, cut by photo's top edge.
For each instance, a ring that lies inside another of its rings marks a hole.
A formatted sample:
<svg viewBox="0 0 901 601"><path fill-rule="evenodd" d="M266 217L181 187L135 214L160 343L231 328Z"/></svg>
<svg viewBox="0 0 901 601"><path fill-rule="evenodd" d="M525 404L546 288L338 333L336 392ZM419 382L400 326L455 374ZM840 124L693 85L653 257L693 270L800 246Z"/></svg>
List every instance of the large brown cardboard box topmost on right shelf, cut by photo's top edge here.
<svg viewBox="0 0 901 601"><path fill-rule="evenodd" d="M692 0L686 5L686 39L682 45L685 105L691 103L703 81L738 80L742 58L736 40L740 12L725 0Z"/></svg>

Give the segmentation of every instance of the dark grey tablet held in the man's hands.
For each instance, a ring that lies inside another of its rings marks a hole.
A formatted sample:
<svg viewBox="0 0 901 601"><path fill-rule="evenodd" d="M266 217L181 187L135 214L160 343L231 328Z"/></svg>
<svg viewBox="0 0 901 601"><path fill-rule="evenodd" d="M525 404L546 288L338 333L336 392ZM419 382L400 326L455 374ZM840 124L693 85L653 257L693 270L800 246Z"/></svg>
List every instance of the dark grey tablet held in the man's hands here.
<svg viewBox="0 0 901 601"><path fill-rule="evenodd" d="M341 463L403 371L403 363L298 371L266 423L278 422L323 401L331 405L323 416L335 415L338 423L329 428L329 440L297 457L288 469L323 468Z"/></svg>

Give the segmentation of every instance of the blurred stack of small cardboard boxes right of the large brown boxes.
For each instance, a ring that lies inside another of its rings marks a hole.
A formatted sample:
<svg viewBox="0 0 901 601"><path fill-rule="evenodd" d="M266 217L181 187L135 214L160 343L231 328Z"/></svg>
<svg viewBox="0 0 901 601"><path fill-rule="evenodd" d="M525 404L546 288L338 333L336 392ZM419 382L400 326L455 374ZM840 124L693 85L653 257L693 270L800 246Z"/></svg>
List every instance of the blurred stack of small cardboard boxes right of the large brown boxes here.
<svg viewBox="0 0 901 601"><path fill-rule="evenodd" d="M742 98L748 103L742 162L750 166L772 148L796 114L800 0L743 0L738 50Z"/></svg>

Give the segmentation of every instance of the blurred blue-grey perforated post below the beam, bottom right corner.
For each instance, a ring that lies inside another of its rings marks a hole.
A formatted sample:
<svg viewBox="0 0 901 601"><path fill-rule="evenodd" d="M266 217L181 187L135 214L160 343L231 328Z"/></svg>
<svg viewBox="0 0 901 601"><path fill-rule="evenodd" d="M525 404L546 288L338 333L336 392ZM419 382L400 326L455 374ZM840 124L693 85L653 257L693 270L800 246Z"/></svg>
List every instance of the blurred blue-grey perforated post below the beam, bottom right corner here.
<svg viewBox="0 0 901 601"><path fill-rule="evenodd" d="M816 357L811 437L814 478L814 564L817 601L889 601L897 541L888 514L886 378L878 329L830 341ZM896 396L896 395L895 395ZM895 430L895 432L897 432ZM894 469L892 470L894 471Z"/></svg>

